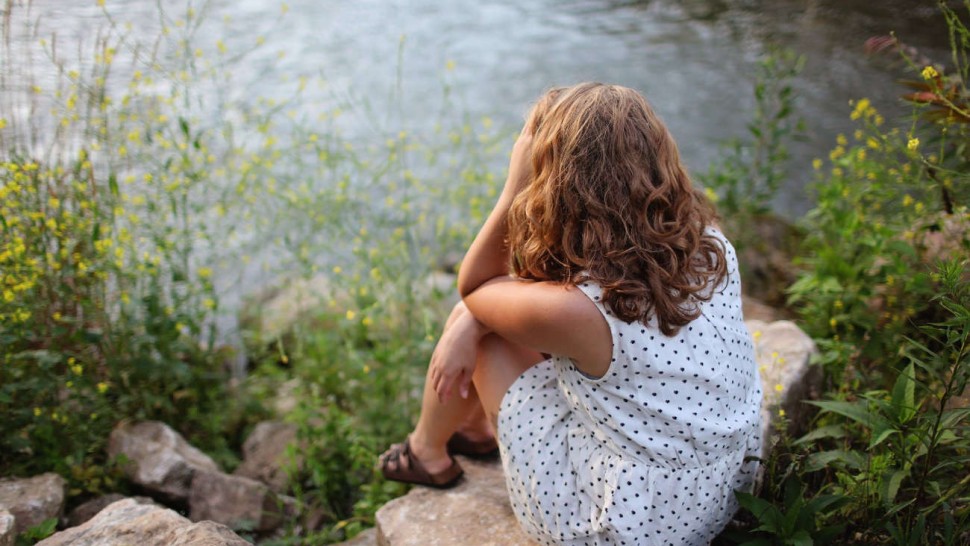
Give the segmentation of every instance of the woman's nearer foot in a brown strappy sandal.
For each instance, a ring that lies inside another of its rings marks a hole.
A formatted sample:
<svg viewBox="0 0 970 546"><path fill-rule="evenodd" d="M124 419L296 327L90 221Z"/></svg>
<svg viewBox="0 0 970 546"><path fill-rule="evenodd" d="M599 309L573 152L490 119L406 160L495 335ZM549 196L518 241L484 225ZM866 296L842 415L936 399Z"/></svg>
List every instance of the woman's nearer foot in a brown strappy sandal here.
<svg viewBox="0 0 970 546"><path fill-rule="evenodd" d="M388 480L429 487L447 488L458 483L464 473L446 450L436 450L408 436L380 456L381 473Z"/></svg>

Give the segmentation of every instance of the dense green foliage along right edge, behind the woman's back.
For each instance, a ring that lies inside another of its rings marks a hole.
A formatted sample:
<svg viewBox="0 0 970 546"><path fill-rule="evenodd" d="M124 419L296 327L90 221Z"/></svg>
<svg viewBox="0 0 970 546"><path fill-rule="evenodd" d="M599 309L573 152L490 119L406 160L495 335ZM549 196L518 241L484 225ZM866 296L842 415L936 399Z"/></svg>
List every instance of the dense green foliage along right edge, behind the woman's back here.
<svg viewBox="0 0 970 546"><path fill-rule="evenodd" d="M953 97L964 93L970 44L962 17L942 9L957 68L915 68ZM970 537L968 134L939 104L914 107L908 126L888 127L856 101L851 143L837 138L828 170L815 161L818 201L790 301L820 348L828 391L812 403L813 429L769 457L759 498L741 497L759 522L755 543L809 544L823 529L837 544Z"/></svg>

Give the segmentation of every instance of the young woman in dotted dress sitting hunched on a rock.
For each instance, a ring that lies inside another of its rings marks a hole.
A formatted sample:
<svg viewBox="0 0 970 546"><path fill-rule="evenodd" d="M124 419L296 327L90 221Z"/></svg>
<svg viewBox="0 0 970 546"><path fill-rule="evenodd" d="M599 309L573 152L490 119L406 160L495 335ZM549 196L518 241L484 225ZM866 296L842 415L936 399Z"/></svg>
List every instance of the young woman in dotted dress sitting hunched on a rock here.
<svg viewBox="0 0 970 546"><path fill-rule="evenodd" d="M452 485L452 454L494 448L490 423L542 544L720 532L754 479L760 380L734 250L642 96L584 83L539 99L458 288L386 477Z"/></svg>

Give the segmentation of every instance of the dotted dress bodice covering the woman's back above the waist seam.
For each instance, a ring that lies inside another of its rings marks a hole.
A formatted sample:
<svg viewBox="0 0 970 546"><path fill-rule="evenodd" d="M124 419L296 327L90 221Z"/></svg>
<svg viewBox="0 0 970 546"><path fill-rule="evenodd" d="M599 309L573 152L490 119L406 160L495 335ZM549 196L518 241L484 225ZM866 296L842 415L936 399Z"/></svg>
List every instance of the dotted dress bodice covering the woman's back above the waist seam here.
<svg viewBox="0 0 970 546"><path fill-rule="evenodd" d="M741 316L737 260L722 240L728 277L701 304L701 316L673 336L654 324L618 320L600 302L598 286L579 285L610 326L613 362L599 379L560 362L560 387L613 449L645 464L708 465L746 450L760 433L761 382Z"/></svg>

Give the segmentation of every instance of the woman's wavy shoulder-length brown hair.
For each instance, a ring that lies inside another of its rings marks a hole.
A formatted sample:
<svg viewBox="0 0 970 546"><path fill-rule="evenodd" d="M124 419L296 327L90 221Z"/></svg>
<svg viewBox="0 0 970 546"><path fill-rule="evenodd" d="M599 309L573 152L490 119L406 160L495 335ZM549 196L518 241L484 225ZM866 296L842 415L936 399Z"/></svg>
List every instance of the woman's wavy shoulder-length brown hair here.
<svg viewBox="0 0 970 546"><path fill-rule="evenodd" d="M707 230L713 207L647 101L616 85L556 88L526 131L534 176L508 215L515 274L594 281L617 317L656 317L665 335L700 316L727 274L725 248Z"/></svg>

